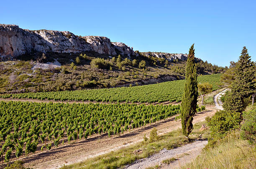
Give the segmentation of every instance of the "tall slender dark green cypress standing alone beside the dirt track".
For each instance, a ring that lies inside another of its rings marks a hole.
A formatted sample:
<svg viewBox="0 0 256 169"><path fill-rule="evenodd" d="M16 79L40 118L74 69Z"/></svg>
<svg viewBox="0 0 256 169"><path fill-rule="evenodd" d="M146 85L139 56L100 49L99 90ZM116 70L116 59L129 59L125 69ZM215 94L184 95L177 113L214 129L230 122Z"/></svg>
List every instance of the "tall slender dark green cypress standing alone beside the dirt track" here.
<svg viewBox="0 0 256 169"><path fill-rule="evenodd" d="M181 121L182 121L182 133L188 137L193 129L193 116L196 114L197 108L197 70L195 66L195 50L194 44L189 49L189 55L187 57L186 64L186 76L184 93L181 103Z"/></svg>

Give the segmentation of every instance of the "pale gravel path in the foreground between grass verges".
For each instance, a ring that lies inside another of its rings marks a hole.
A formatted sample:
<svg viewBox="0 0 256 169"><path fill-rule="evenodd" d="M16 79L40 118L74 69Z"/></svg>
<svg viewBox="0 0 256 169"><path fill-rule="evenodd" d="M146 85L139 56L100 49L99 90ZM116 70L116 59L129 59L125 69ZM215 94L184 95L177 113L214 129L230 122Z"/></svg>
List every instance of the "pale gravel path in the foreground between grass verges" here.
<svg viewBox="0 0 256 169"><path fill-rule="evenodd" d="M179 155L182 155L184 153L188 154L190 152L191 154L193 152L192 154L194 154L195 151L200 152L207 143L208 141L197 140L191 144L186 144L176 149L170 149L170 150L163 149L159 151L159 153L149 156L148 158L135 161L131 165L126 166L124 169L144 169L150 166L161 165L162 161L165 159L170 159L172 157L177 158ZM181 161L179 160L179 162ZM164 167L171 168L170 165L164 166Z"/></svg>

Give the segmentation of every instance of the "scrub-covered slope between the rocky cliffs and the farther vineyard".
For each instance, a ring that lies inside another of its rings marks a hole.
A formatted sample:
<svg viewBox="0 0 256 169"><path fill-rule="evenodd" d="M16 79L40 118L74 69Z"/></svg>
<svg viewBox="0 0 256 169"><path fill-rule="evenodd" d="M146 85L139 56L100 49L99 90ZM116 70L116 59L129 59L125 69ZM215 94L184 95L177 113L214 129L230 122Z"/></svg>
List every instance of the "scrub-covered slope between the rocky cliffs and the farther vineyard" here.
<svg viewBox="0 0 256 169"><path fill-rule="evenodd" d="M42 91L70 91L87 88L110 88L123 84L173 76L184 77L185 61L169 62L163 58L139 56L101 55L87 52L81 54L46 53L21 56L19 61L0 62L0 93L24 93ZM60 67L51 64L46 69L33 66L59 61ZM198 61L198 74L223 73L226 68L207 61ZM143 84L143 82L141 82Z"/></svg>

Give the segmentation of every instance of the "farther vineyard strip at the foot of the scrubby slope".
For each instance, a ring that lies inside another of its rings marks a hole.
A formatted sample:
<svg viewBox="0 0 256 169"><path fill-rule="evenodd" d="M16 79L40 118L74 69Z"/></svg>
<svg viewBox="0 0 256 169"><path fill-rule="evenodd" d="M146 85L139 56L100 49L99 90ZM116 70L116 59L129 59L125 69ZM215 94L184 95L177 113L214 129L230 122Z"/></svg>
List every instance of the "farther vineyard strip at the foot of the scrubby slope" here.
<svg viewBox="0 0 256 169"><path fill-rule="evenodd" d="M198 83L209 82L213 91L220 88L218 83L221 74L199 76ZM40 100L59 101L104 101L104 102L141 102L141 103L162 103L164 101L181 101L184 89L184 80L169 81L158 84L105 88L93 90L39 92L0 95L2 98L31 98Z"/></svg>

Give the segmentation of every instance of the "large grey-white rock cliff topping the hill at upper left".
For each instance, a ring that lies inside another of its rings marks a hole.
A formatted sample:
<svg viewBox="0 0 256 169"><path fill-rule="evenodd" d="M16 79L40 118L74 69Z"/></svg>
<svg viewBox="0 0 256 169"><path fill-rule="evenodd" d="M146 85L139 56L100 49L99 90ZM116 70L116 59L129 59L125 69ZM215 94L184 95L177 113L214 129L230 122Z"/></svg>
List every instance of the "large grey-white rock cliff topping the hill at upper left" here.
<svg viewBox="0 0 256 169"><path fill-rule="evenodd" d="M134 55L124 43L111 43L100 36L77 36L68 31L23 30L18 25L0 24L0 57L15 58L32 52L82 53L95 51L108 55Z"/></svg>

